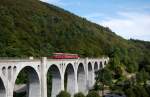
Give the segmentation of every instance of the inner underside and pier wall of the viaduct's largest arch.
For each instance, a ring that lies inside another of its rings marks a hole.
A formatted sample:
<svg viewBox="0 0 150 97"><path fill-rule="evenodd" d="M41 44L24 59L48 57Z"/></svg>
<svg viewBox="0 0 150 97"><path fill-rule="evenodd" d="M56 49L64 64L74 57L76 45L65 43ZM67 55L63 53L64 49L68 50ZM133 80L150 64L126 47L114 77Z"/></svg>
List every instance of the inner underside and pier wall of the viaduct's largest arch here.
<svg viewBox="0 0 150 97"><path fill-rule="evenodd" d="M22 71L25 71L25 73L27 73L27 79L28 79L28 82L25 83L26 92L27 92L26 96L27 97L41 97L40 78L39 78L37 71L34 69L34 67L31 67L31 66L25 66L23 68L20 68L20 70L18 70L18 72L16 73L14 77L14 89L13 90L15 91L15 89L17 89L17 85L15 84L15 82L17 80L17 77Z"/></svg>

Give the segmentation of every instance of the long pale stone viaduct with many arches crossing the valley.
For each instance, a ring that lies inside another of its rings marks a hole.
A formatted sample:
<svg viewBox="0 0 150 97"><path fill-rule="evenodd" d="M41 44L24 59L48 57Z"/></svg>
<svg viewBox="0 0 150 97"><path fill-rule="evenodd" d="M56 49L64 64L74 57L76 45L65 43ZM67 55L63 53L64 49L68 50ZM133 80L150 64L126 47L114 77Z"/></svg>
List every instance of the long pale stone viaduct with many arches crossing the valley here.
<svg viewBox="0 0 150 97"><path fill-rule="evenodd" d="M104 68L109 58L99 59L0 59L0 97L13 97L16 79L22 70L28 73L27 97L47 97L47 76L52 74L51 97L65 89L74 95L87 93L94 85L95 71Z"/></svg>

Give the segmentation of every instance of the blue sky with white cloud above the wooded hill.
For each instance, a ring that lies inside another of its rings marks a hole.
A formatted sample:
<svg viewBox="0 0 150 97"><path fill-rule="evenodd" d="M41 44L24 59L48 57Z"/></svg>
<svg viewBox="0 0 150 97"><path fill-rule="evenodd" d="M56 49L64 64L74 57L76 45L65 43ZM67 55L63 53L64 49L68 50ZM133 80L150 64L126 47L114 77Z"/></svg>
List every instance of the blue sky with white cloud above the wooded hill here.
<svg viewBox="0 0 150 97"><path fill-rule="evenodd" d="M126 39L150 41L150 0L41 0L109 27Z"/></svg>

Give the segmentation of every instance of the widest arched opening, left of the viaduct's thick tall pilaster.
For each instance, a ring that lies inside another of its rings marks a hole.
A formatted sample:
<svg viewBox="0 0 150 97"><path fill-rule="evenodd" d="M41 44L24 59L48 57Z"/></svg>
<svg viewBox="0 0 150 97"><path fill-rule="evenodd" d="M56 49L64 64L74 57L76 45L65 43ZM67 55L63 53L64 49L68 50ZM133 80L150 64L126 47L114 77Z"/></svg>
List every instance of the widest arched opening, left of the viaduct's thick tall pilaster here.
<svg viewBox="0 0 150 97"><path fill-rule="evenodd" d="M15 80L13 97L41 97L39 76L34 68L23 68Z"/></svg>

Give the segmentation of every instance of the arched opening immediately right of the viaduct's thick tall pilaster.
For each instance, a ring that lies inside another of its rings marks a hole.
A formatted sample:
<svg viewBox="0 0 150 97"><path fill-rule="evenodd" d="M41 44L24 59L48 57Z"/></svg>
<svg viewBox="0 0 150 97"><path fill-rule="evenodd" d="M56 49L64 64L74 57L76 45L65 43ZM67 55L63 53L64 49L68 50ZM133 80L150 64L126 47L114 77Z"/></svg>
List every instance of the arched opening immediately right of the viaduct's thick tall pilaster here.
<svg viewBox="0 0 150 97"><path fill-rule="evenodd" d="M58 67L52 65L47 72L47 97L56 97L61 91L61 75Z"/></svg>

